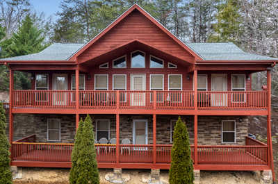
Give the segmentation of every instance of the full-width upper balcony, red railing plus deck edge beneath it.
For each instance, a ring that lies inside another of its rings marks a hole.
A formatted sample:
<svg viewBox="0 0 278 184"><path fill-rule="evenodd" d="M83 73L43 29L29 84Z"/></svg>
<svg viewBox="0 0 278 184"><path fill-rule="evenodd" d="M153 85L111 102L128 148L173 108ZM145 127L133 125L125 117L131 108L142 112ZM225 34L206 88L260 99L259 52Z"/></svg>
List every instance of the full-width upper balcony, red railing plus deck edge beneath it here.
<svg viewBox="0 0 278 184"><path fill-rule="evenodd" d="M13 90L15 113L265 115L267 91ZM156 99L156 101L154 101Z"/></svg>

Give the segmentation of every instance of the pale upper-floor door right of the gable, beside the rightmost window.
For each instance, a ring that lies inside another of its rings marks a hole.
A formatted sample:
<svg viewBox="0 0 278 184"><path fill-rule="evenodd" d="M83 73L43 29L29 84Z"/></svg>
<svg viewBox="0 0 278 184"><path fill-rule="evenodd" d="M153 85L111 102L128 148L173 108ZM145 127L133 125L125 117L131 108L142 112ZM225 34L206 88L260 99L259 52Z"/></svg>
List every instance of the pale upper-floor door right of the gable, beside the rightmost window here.
<svg viewBox="0 0 278 184"><path fill-rule="evenodd" d="M224 94L227 91L227 75L212 74L211 75L211 106L227 106L228 95Z"/></svg>

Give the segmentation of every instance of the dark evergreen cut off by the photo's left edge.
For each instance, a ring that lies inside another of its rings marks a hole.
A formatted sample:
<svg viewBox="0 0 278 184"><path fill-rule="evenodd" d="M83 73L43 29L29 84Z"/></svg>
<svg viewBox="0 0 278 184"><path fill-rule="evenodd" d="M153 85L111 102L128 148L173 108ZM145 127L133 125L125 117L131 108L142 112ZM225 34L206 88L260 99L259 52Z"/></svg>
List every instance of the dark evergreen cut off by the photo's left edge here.
<svg viewBox="0 0 278 184"><path fill-rule="evenodd" d="M3 103L0 103L0 183L11 184L10 144L6 137L6 116Z"/></svg>

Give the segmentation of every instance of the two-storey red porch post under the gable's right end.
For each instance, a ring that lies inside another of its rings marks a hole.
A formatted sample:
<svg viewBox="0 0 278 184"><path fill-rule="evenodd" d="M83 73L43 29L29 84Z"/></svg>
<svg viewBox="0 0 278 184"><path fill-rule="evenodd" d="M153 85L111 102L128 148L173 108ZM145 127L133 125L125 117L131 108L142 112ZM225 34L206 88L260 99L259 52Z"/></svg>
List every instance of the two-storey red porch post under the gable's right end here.
<svg viewBox="0 0 278 184"><path fill-rule="evenodd" d="M194 70L194 165L198 165L197 70Z"/></svg>

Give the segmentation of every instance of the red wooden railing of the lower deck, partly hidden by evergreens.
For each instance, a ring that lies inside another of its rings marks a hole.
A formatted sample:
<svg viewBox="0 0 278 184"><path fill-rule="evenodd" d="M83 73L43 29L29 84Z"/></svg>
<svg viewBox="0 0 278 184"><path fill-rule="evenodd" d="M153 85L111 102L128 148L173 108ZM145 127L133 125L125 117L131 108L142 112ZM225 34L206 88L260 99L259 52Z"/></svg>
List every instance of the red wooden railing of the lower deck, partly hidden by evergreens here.
<svg viewBox="0 0 278 184"><path fill-rule="evenodd" d="M49 144L31 142L13 142L13 160L44 162L70 162L74 144ZM154 151L152 144L120 144L120 163L152 163ZM194 161L194 146L191 145L191 157ZM95 144L97 162L116 162L115 144ZM172 145L156 145L156 163L171 162ZM266 146L238 145L198 145L199 165L267 165Z"/></svg>

